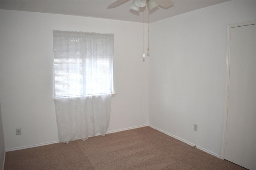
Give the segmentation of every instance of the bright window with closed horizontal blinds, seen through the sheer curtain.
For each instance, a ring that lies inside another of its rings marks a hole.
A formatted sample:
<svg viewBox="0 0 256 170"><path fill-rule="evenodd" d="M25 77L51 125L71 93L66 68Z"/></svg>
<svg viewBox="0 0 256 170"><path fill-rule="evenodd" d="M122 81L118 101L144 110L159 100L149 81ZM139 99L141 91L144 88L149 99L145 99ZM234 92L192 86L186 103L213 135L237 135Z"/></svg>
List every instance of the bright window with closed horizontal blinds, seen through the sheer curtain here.
<svg viewBox="0 0 256 170"><path fill-rule="evenodd" d="M56 31L54 98L112 93L114 35Z"/></svg>

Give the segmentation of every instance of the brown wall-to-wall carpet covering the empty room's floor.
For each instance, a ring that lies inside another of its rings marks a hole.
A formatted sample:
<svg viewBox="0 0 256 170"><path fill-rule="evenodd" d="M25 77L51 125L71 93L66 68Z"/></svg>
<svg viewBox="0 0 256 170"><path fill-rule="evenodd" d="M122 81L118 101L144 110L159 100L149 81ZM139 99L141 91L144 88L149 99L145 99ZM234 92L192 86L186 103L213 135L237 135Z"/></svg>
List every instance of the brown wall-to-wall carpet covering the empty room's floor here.
<svg viewBox="0 0 256 170"><path fill-rule="evenodd" d="M151 127L6 152L4 170L244 170Z"/></svg>

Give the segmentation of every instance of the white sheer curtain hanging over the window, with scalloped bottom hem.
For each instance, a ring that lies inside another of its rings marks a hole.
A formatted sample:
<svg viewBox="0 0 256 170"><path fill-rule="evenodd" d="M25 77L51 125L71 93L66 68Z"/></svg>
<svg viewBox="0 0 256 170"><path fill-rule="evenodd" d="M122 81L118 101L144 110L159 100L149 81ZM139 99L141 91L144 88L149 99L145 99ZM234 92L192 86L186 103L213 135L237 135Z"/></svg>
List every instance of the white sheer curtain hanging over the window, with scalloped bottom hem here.
<svg viewBox="0 0 256 170"><path fill-rule="evenodd" d="M54 30L54 104L60 142L108 129L114 35Z"/></svg>

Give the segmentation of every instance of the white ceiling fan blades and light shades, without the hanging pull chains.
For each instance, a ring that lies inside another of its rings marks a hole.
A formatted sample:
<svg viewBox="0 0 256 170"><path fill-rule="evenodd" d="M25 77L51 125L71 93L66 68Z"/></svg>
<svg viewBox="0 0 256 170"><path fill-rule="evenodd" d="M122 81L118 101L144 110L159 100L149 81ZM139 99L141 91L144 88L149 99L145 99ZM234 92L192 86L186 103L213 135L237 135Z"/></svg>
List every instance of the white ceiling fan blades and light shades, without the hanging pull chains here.
<svg viewBox="0 0 256 170"><path fill-rule="evenodd" d="M116 8L129 0L116 0L112 4L108 5L108 8ZM173 2L171 0L133 0L132 5L130 8L132 10L140 11L140 8L148 5L148 9L152 10L157 6L168 9L173 6Z"/></svg>

